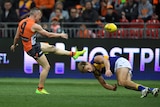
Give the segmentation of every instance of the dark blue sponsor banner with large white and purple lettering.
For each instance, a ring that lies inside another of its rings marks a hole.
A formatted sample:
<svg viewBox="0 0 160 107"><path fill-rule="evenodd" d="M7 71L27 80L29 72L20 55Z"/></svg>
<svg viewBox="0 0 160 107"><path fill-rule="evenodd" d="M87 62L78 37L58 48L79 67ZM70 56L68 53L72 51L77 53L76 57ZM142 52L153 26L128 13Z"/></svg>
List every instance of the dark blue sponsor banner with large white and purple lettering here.
<svg viewBox="0 0 160 107"><path fill-rule="evenodd" d="M77 60L69 56L47 54L51 65L49 78L94 78L92 74L81 74L77 69L79 61L90 61L95 54L123 56L133 67L133 79L160 80L160 42L159 40L136 39L55 39L39 38L58 48L75 51L86 49ZM0 77L38 78L42 67L22 48L21 42L13 53L10 46L13 39L0 39ZM115 79L115 76L111 77Z"/></svg>

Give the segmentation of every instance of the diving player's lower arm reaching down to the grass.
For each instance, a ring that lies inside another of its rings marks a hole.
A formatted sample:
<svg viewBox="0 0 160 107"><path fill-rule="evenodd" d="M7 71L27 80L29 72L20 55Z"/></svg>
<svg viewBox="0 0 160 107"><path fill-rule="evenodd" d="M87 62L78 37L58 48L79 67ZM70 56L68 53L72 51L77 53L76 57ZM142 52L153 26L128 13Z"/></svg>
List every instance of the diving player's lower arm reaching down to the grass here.
<svg viewBox="0 0 160 107"><path fill-rule="evenodd" d="M96 77L96 78L97 78L97 80L99 81L99 83L100 83L105 89L113 90L113 91L116 91L116 90L117 90L117 85L116 85L116 84L110 85L110 84L106 83L102 76L99 76L99 77Z"/></svg>

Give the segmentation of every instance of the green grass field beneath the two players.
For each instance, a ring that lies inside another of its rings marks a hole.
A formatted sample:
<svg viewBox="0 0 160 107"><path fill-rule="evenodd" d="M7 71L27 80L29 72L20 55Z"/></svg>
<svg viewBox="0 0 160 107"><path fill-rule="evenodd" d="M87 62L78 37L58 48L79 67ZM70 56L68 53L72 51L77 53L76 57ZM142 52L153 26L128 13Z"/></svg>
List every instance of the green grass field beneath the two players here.
<svg viewBox="0 0 160 107"><path fill-rule="evenodd" d="M109 80L114 84L116 81ZM136 81L160 87L160 81ZM160 96L118 87L116 92L100 86L94 79L47 79L50 95L37 95L38 79L0 78L0 107L159 107Z"/></svg>

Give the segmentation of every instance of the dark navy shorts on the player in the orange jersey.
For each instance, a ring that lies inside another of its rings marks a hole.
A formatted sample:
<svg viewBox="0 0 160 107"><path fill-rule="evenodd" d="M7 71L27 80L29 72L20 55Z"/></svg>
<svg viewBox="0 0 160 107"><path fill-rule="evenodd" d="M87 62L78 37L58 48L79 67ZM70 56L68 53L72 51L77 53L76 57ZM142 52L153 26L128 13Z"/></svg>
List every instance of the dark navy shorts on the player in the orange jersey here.
<svg viewBox="0 0 160 107"><path fill-rule="evenodd" d="M41 50L40 43L36 43L35 45L32 45L32 49L27 52L27 54L31 57L33 57L35 60L37 58L41 57L43 55L43 52Z"/></svg>

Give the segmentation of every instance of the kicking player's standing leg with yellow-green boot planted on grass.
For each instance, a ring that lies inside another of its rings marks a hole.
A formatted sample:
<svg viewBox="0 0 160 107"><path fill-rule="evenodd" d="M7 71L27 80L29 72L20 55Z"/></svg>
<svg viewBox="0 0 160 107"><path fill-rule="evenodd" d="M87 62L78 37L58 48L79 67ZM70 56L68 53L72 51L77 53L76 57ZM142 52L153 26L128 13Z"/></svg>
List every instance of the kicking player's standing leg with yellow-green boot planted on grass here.
<svg viewBox="0 0 160 107"><path fill-rule="evenodd" d="M38 89L36 90L36 93L37 94L49 94L46 90L44 90L44 84L48 76L50 65L44 54L41 57L37 58L37 62L39 63L39 65L42 66L42 71L40 73L39 84L38 84Z"/></svg>

